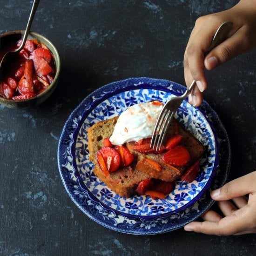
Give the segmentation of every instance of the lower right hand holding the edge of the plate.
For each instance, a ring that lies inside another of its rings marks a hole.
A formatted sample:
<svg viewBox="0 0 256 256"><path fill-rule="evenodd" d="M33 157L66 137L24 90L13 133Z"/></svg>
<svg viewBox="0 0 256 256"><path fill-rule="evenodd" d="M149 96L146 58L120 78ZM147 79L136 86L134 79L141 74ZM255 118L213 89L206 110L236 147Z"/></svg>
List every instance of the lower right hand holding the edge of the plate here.
<svg viewBox="0 0 256 256"><path fill-rule="evenodd" d="M184 227L186 231L218 236L256 233L256 171L213 190L211 197L218 201L224 217L209 210L202 216L204 222L191 222Z"/></svg>

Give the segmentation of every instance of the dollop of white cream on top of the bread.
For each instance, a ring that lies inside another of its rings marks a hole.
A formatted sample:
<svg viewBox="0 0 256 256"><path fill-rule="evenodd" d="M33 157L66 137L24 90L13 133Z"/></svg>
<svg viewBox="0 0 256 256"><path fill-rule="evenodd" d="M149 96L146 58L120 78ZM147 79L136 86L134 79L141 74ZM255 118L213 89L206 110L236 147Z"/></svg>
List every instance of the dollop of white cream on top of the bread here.
<svg viewBox="0 0 256 256"><path fill-rule="evenodd" d="M127 108L119 116L109 138L113 145L139 141L151 137L157 118L163 108L159 101L140 103Z"/></svg>

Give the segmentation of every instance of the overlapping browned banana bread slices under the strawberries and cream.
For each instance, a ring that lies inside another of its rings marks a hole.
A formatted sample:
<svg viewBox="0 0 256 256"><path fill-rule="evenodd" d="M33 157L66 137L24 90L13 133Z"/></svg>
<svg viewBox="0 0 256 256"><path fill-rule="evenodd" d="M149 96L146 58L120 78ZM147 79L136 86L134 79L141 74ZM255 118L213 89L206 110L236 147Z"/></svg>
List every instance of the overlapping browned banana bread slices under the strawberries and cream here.
<svg viewBox="0 0 256 256"><path fill-rule="evenodd" d="M96 155L99 149L103 147L104 138L109 138L112 135L117 119L118 116L108 120L99 121L88 128L88 150L90 153L89 159L95 164L94 174L101 179L109 189L112 189L121 196L130 197L134 195L139 182L148 178L161 179L168 182L178 179L183 171L191 163L199 159L204 152L202 143L174 120L169 128L168 135L171 136L174 133L178 133L183 136L180 144L186 147L190 154L190 161L186 166L178 168L168 165L162 161L162 154L145 155L136 152L132 149L134 142L128 142L126 143L126 146L134 155L132 164L128 167L121 167L117 171L105 176L97 163ZM159 172L158 170L145 165L144 160L146 158L158 162L162 167L161 171Z"/></svg>

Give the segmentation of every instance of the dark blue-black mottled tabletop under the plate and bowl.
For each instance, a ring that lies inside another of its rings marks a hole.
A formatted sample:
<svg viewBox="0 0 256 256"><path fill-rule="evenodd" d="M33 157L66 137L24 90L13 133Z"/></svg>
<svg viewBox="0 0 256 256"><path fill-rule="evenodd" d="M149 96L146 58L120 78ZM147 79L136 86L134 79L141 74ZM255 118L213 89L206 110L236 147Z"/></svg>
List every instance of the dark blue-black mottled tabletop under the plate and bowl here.
<svg viewBox="0 0 256 256"><path fill-rule="evenodd" d="M0 33L24 29L31 2L1 1ZM102 85L148 76L184 84L182 59L197 17L227 0L87 0L40 2L32 30L61 56L61 77L37 108L0 106L1 255L255 255L254 235L217 237L182 229L131 236L101 227L70 200L57 167L64 122ZM229 180L256 167L256 51L208 74L205 99L232 147Z"/></svg>

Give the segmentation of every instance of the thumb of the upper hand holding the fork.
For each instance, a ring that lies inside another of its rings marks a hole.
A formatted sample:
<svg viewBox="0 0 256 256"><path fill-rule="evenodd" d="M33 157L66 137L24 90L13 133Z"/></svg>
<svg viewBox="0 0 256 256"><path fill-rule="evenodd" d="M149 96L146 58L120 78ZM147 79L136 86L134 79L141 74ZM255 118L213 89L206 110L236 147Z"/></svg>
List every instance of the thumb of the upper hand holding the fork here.
<svg viewBox="0 0 256 256"><path fill-rule="evenodd" d="M220 45L212 49L204 59L204 66L208 70L220 66L222 63L229 61L238 54L249 50L246 43L245 28L241 27L231 37L223 41Z"/></svg>

